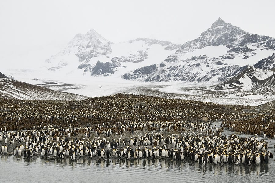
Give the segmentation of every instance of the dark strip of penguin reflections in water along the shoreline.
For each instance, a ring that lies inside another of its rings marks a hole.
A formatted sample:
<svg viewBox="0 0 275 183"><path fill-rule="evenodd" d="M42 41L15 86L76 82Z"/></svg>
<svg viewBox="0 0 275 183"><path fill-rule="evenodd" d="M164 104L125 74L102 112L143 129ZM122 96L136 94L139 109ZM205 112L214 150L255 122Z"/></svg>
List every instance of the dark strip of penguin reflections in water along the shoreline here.
<svg viewBox="0 0 275 183"><path fill-rule="evenodd" d="M206 166L203 166L202 164L199 164L197 162L191 162L191 161L176 161L176 160L166 160L166 159L78 159L78 160L71 160L69 158L64 159L56 159L53 161L48 161L46 159L41 158L31 158L31 159L23 159L16 158L15 156L7 156L2 155L0 156L1 164L9 163L9 161L14 162L23 162L25 166L31 166L33 163L41 164L41 166L44 166L46 164L52 163L54 166L60 166L60 167L76 167L76 166L82 166L86 168L95 168L95 169L105 169L110 167L121 167L126 169L131 169L133 167L142 168L142 169L163 169L166 171L195 171L198 173L202 173L202 175L205 174L214 174L214 175L220 175L220 174L234 174L234 175L266 175L269 174L269 169L273 172L274 171L274 161L270 160L269 164L260 164L260 165L229 165L229 164L207 164Z"/></svg>

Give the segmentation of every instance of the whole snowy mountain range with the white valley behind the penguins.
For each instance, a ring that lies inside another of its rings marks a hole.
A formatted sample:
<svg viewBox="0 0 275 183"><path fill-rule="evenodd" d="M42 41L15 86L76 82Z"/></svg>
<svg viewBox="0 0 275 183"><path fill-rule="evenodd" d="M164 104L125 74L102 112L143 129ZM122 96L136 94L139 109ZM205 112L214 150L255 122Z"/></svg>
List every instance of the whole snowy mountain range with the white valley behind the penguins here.
<svg viewBox="0 0 275 183"><path fill-rule="evenodd" d="M25 82L86 96L169 93L181 99L260 104L275 99L274 60L274 38L219 18L183 45L148 38L114 44L91 29L47 59L43 74L14 73Z"/></svg>

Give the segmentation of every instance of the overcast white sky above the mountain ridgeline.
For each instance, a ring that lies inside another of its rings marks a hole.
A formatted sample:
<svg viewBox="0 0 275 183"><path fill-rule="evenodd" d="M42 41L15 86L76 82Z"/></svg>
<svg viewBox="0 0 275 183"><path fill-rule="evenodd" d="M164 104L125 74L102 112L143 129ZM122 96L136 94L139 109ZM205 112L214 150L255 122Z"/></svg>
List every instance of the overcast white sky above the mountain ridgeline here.
<svg viewBox="0 0 275 183"><path fill-rule="evenodd" d="M221 17L275 38L274 7L273 0L1 1L0 62L4 68L31 67L91 28L115 43L147 37L183 44Z"/></svg>

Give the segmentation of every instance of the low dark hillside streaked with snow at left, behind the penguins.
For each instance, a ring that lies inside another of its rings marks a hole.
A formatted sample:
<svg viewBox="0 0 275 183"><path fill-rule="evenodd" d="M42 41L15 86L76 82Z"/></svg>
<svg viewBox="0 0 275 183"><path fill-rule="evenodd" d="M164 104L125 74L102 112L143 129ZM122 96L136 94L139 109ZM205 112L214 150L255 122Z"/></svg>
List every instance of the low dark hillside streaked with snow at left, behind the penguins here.
<svg viewBox="0 0 275 183"><path fill-rule="evenodd" d="M82 95L50 90L9 78L0 78L0 99L22 100L81 100L87 99Z"/></svg>

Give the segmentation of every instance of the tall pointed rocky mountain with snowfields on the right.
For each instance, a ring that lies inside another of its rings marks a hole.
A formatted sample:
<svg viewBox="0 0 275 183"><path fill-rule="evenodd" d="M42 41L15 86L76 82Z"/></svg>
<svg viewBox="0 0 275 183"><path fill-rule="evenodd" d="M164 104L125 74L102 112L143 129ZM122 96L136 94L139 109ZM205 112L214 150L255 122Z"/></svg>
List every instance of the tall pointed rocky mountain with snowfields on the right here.
<svg viewBox="0 0 275 183"><path fill-rule="evenodd" d="M188 41L161 64L147 65L124 74L140 81L225 81L243 66L274 67L275 39L251 34L221 18L200 37ZM144 72L146 70L146 72Z"/></svg>

